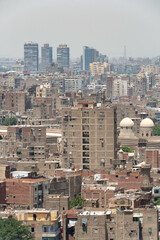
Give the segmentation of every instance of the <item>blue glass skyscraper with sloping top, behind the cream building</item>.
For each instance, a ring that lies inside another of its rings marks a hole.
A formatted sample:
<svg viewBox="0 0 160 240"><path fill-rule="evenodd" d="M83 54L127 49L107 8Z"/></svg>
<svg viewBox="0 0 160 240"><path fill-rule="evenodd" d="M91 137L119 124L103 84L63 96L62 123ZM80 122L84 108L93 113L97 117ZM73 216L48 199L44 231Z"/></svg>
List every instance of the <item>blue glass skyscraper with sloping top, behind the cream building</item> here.
<svg viewBox="0 0 160 240"><path fill-rule="evenodd" d="M83 47L83 70L89 71L89 64L97 61L97 54L94 48Z"/></svg>

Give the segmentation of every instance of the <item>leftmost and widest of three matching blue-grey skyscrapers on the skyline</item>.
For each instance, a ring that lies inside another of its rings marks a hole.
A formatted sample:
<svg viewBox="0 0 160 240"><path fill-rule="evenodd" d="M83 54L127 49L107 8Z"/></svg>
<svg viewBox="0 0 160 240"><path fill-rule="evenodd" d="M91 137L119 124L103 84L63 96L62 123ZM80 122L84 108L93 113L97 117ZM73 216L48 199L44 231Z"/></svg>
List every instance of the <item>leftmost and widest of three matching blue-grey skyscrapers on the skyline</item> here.
<svg viewBox="0 0 160 240"><path fill-rule="evenodd" d="M24 70L38 72L38 43L28 42L24 44Z"/></svg>

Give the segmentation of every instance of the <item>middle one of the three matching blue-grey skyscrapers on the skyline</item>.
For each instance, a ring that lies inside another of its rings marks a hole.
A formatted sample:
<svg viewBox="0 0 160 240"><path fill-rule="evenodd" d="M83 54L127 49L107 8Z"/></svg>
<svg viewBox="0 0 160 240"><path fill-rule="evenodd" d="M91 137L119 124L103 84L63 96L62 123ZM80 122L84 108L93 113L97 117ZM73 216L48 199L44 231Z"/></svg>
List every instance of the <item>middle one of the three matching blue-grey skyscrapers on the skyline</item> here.
<svg viewBox="0 0 160 240"><path fill-rule="evenodd" d="M42 58L42 70L45 71L46 67L49 67L52 63L52 47L49 44L44 44L41 48L41 58Z"/></svg>

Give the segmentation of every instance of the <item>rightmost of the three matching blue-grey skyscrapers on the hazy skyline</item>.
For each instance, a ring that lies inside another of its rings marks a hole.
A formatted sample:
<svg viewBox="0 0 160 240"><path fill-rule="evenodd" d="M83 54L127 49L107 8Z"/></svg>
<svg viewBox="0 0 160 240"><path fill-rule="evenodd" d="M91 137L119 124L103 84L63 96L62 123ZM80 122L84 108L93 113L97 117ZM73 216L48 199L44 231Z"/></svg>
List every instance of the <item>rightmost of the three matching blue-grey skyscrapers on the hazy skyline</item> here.
<svg viewBox="0 0 160 240"><path fill-rule="evenodd" d="M57 48L57 63L58 66L63 67L64 69L69 68L70 53L69 47L66 44L59 45Z"/></svg>

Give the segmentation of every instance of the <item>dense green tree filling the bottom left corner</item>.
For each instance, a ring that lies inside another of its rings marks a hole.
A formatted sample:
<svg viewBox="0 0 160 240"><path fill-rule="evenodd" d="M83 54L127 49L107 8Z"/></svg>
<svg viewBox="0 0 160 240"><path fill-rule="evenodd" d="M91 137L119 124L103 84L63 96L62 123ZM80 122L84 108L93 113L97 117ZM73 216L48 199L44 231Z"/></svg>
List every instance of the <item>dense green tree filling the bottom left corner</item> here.
<svg viewBox="0 0 160 240"><path fill-rule="evenodd" d="M0 218L0 240L33 239L29 226L14 218Z"/></svg>

